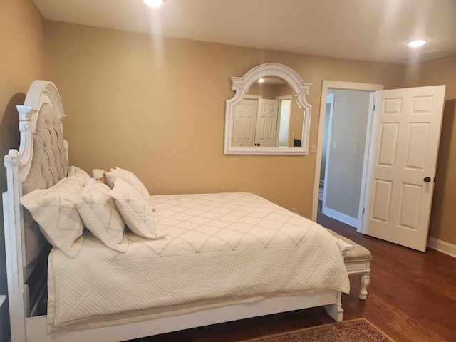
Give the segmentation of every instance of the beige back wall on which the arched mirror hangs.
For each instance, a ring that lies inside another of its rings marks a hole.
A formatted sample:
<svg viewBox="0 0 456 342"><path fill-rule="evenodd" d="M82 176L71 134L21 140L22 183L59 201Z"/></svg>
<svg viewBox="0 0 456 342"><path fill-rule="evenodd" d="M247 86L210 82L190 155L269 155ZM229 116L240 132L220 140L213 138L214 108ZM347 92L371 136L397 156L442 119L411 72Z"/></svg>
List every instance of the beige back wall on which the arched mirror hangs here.
<svg viewBox="0 0 456 342"><path fill-rule="evenodd" d="M316 143L323 80L402 85L403 66L318 58L46 21L48 70L66 108L70 161L132 170L152 194L254 192L311 217L315 155L224 155L232 76L284 63L314 83Z"/></svg>

